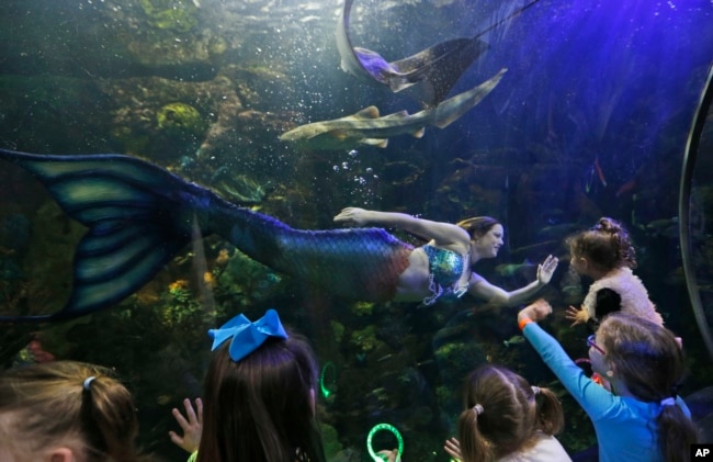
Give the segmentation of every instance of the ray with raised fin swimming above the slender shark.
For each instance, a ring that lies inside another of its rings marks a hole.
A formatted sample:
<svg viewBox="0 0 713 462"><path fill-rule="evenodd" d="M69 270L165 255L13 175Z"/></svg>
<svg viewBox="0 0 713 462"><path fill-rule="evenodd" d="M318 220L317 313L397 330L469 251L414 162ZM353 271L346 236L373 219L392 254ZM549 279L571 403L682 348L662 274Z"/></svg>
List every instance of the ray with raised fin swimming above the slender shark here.
<svg viewBox="0 0 713 462"><path fill-rule="evenodd" d="M376 52L352 45L349 18L353 3L344 0L335 33L341 69L362 81L385 84L393 92L418 83L418 91L411 94L426 108L443 101L463 72L489 47L477 36L453 38L388 63Z"/></svg>

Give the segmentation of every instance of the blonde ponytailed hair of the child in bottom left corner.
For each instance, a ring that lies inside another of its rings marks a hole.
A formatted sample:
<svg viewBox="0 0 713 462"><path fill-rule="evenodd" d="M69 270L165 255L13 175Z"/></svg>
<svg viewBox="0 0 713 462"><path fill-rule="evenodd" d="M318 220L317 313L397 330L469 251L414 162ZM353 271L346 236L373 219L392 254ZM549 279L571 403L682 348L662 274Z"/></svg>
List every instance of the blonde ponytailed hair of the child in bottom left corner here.
<svg viewBox="0 0 713 462"><path fill-rule="evenodd" d="M0 415L0 439L18 457L68 447L87 462L142 460L134 399L105 368L53 361L4 371Z"/></svg>

